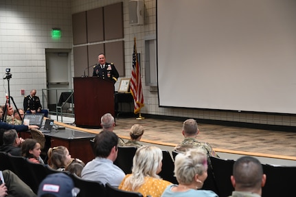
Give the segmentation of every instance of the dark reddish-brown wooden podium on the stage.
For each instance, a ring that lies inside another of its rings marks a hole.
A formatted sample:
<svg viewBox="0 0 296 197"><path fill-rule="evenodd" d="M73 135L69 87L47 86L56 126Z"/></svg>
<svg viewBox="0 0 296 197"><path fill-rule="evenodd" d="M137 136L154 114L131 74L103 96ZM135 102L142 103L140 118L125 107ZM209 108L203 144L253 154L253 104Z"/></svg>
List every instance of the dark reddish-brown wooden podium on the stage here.
<svg viewBox="0 0 296 197"><path fill-rule="evenodd" d="M114 84L97 77L73 78L75 123L82 128L101 128L101 117L114 117Z"/></svg>

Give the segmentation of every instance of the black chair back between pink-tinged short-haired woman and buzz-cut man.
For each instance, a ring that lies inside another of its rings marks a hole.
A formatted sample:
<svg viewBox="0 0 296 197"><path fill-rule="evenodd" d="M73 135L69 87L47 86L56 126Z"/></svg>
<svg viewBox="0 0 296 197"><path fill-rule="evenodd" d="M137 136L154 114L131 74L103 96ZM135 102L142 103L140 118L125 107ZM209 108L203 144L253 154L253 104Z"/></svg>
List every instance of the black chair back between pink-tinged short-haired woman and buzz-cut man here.
<svg viewBox="0 0 296 197"><path fill-rule="evenodd" d="M209 157L212 163L212 170L214 180L216 181L218 196L225 197L231 196L234 187L231 184L230 176L234 166L234 160L221 159L218 157Z"/></svg>

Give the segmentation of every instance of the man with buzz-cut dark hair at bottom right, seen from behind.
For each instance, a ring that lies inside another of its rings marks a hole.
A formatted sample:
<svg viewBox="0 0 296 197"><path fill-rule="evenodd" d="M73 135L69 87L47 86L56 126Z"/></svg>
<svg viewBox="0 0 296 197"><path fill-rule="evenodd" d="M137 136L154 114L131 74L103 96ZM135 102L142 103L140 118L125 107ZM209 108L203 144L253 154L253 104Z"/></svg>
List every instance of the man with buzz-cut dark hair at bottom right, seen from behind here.
<svg viewBox="0 0 296 197"><path fill-rule="evenodd" d="M231 183L234 192L230 197L258 197L262 195L262 187L266 183L262 164L254 157L240 157L234 163Z"/></svg>

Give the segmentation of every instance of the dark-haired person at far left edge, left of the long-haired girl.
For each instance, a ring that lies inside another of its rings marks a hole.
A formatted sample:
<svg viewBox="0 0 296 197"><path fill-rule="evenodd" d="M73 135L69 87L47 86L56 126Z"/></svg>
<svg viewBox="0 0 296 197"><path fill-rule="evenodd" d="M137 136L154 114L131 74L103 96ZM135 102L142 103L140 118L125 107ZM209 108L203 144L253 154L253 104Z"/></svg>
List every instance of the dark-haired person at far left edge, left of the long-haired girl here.
<svg viewBox="0 0 296 197"><path fill-rule="evenodd" d="M16 130L10 129L3 133L3 145L0 151L7 152L14 156L21 156L21 143L24 139L17 135Z"/></svg>

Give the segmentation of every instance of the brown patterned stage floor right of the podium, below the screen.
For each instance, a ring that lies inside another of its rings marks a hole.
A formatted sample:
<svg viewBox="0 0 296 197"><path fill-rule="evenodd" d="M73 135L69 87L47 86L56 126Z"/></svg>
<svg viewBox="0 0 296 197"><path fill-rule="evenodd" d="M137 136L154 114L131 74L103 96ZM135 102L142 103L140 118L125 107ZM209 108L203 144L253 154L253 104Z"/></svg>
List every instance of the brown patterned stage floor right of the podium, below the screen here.
<svg viewBox="0 0 296 197"><path fill-rule="evenodd" d="M116 118L114 132L129 137L133 124L144 126L142 139L179 143L183 140L182 121L135 117ZM199 141L207 141L213 148L259 152L296 157L296 132L238 128L213 124L198 124Z"/></svg>

